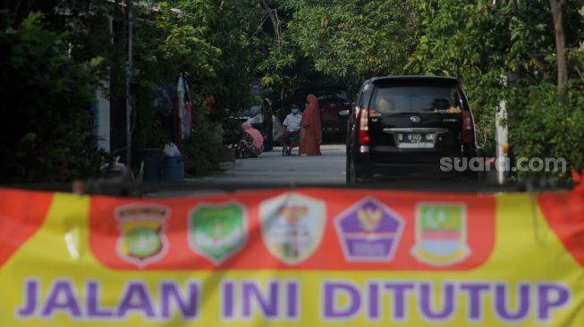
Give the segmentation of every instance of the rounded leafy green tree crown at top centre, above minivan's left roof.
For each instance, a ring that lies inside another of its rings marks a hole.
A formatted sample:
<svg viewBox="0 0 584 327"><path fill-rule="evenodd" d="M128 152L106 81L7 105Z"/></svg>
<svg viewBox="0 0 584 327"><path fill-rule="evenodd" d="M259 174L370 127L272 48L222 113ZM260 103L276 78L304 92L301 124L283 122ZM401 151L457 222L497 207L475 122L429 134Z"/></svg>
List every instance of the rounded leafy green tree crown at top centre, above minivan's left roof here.
<svg viewBox="0 0 584 327"><path fill-rule="evenodd" d="M352 87L396 74L414 49L418 18L404 1L287 2L288 32L314 70Z"/></svg>

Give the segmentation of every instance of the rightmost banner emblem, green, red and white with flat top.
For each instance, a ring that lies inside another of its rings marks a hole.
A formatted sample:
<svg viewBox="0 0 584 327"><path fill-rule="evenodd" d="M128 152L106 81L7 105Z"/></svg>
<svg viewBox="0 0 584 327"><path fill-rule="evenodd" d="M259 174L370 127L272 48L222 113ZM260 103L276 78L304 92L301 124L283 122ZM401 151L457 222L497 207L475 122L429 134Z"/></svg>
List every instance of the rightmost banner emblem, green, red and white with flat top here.
<svg viewBox="0 0 584 327"><path fill-rule="evenodd" d="M456 264L470 256L466 205L416 205L416 244L411 254L431 265Z"/></svg>

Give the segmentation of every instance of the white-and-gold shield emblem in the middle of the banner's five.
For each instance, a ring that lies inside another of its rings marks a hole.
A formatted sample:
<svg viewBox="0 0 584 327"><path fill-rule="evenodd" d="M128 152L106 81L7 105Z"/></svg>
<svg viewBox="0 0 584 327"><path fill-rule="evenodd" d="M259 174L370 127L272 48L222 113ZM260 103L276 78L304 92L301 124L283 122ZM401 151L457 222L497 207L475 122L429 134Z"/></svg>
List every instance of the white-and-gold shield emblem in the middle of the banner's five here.
<svg viewBox="0 0 584 327"><path fill-rule="evenodd" d="M285 264L300 264L320 245L326 205L316 198L286 193L259 205L262 239L267 250Z"/></svg>

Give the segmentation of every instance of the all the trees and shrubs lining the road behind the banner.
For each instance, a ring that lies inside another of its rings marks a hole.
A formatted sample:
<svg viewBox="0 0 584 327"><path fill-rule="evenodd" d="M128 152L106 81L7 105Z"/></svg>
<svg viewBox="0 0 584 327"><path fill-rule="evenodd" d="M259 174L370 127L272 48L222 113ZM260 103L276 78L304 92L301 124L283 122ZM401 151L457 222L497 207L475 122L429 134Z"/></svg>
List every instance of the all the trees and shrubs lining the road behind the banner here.
<svg viewBox="0 0 584 327"><path fill-rule="evenodd" d="M584 0L174 0L135 2L133 11L132 144L168 141L153 91L188 71L201 122L182 146L191 172L213 172L218 144L198 139L251 104L253 83L277 104L309 81L356 92L392 74L459 77L486 155L505 101L513 155L584 168ZM123 153L97 149L89 103L101 88L113 109L125 105L126 13L121 0L0 4L0 180L86 178ZM211 113L207 95L216 98Z"/></svg>

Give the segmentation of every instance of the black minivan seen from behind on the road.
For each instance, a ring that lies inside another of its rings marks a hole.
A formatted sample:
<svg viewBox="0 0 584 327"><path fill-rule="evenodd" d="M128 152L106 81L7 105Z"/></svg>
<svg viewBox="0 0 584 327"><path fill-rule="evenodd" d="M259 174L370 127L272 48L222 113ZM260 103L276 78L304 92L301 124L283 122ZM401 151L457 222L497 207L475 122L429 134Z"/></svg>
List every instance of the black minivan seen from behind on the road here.
<svg viewBox="0 0 584 327"><path fill-rule="evenodd" d="M472 112L459 80L388 76L366 80L347 129L347 183L381 176L464 176L443 158L477 155Z"/></svg>

